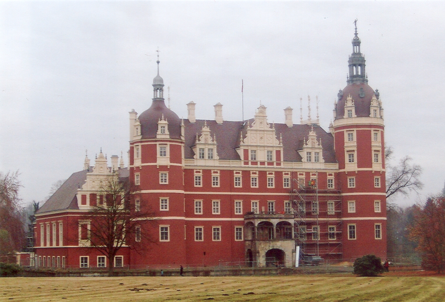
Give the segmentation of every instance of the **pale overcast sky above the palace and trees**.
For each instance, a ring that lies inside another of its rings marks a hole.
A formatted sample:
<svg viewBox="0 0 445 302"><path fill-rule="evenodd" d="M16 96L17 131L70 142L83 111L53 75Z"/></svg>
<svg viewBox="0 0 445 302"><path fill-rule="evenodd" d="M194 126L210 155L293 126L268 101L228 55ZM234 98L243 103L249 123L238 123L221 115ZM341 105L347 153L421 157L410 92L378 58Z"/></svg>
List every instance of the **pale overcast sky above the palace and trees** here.
<svg viewBox="0 0 445 302"><path fill-rule="evenodd" d="M24 203L90 159L129 149L129 114L151 105L159 48L170 107L187 118L284 122L319 100L328 131L346 86L357 19L368 84L379 89L392 163L421 165L419 195L445 181L445 1L0 1L0 172L20 172ZM241 81L243 80L243 96ZM170 87L168 93L167 87ZM168 102L166 100L166 102ZM109 163L110 164L110 163Z"/></svg>

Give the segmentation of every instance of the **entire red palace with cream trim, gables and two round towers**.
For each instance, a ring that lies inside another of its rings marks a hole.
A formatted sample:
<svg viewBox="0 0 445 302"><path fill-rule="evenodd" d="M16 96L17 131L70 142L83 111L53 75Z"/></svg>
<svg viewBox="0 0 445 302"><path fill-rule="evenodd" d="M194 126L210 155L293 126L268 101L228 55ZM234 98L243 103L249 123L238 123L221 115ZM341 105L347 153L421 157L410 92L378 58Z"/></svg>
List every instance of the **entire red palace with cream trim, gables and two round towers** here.
<svg viewBox="0 0 445 302"><path fill-rule="evenodd" d="M284 109L270 124L266 107L245 121L198 120L195 103L181 120L153 80L149 109L129 113L129 166L102 153L73 173L37 213L36 263L107 267L79 223L97 204L97 185L117 171L137 190L135 211L158 219L152 241L127 238L113 265L295 266L301 260L386 257L384 120L378 90L368 85L357 31L347 85L338 92L328 132L317 119L299 123ZM102 177L102 178L101 178ZM141 224L146 223L141 220ZM144 251L131 249L141 240ZM154 242L153 242L154 241ZM298 248L297 248L298 247Z"/></svg>

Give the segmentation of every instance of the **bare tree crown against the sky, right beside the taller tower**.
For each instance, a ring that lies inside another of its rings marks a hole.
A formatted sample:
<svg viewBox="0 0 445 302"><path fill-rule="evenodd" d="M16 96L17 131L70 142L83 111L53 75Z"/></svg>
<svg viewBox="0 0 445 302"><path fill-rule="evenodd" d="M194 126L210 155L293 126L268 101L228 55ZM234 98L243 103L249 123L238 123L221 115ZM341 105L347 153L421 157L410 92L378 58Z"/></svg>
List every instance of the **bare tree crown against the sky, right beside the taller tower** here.
<svg viewBox="0 0 445 302"><path fill-rule="evenodd" d="M410 164L411 157L405 156L399 165L387 166L386 198L395 193L407 195L410 191L418 192L423 183L419 180L422 173L420 165Z"/></svg>

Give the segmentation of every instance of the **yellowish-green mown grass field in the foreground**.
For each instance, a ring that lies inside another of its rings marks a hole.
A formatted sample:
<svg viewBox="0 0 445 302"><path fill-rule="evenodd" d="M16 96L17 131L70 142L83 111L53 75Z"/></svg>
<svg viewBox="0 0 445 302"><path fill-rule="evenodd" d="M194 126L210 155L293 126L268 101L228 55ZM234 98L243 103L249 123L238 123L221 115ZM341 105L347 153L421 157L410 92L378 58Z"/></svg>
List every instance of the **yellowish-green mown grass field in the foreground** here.
<svg viewBox="0 0 445 302"><path fill-rule="evenodd" d="M120 284L123 283L123 284ZM258 277L0 278L0 301L444 301L445 277L387 273Z"/></svg>

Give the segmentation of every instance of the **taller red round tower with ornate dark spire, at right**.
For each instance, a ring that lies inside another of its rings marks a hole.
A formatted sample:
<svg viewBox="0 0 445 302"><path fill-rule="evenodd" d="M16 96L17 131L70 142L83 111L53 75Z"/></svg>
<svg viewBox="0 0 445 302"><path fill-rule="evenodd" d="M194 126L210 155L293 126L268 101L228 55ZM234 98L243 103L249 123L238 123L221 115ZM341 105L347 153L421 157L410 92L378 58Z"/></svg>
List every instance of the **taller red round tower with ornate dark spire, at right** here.
<svg viewBox="0 0 445 302"><path fill-rule="evenodd" d="M357 21L357 20L356 20ZM354 22L356 24L356 21ZM333 134L342 201L343 258L386 257L383 108L368 85L355 27L347 85L338 93Z"/></svg>

